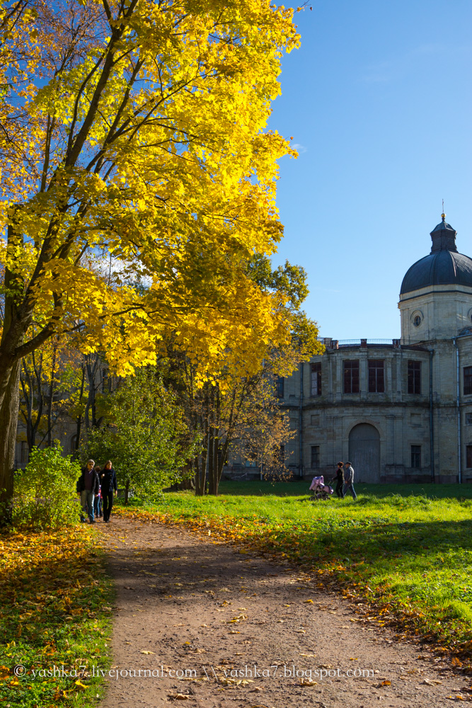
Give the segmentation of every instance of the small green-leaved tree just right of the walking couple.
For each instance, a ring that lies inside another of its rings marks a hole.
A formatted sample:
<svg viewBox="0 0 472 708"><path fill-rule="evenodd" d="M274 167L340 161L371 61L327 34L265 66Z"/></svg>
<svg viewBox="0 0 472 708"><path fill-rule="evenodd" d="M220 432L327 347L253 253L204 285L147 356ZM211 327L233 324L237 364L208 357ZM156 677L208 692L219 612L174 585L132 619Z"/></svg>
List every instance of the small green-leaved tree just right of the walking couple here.
<svg viewBox="0 0 472 708"><path fill-rule="evenodd" d="M178 479L192 455L193 442L173 394L153 367L127 377L108 399L105 426L91 430L82 457L102 464L109 458L129 489L148 497Z"/></svg>

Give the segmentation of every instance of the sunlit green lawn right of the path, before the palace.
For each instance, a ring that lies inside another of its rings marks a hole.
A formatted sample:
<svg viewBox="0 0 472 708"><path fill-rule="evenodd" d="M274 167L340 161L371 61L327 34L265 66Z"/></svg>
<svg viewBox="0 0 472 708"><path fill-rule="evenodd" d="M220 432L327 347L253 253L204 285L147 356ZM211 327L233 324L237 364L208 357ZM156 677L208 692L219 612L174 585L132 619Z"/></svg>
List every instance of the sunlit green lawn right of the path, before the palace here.
<svg viewBox="0 0 472 708"><path fill-rule="evenodd" d="M221 483L218 497L166 493L132 508L246 541L407 618L410 631L472 649L472 485L356 485L311 502L303 482ZM413 629L411 629L413 627Z"/></svg>

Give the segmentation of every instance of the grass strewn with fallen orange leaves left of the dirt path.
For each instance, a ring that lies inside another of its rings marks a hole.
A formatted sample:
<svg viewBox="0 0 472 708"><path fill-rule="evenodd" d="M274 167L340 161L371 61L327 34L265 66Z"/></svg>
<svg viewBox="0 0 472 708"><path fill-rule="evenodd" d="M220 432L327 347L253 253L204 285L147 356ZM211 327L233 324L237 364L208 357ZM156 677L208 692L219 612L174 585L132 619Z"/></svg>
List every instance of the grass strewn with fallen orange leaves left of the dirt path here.
<svg viewBox="0 0 472 708"><path fill-rule="evenodd" d="M0 536L0 703L23 708L70 704L108 666L110 585L88 528L8 532ZM20 680L15 664L25 666ZM48 675L53 666L61 675ZM10 667L10 668L8 668ZM32 669L36 672L33 676ZM8 693L8 691L10 692Z"/></svg>

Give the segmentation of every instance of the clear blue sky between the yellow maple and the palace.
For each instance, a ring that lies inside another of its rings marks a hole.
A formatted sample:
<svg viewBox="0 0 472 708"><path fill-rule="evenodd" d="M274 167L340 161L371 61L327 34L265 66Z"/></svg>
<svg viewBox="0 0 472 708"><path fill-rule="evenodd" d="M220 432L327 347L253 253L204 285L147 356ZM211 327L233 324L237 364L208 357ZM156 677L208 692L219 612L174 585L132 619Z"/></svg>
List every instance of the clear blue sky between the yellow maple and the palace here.
<svg viewBox="0 0 472 708"><path fill-rule="evenodd" d="M400 336L406 270L430 252L441 200L472 256L472 3L318 0L295 16L269 127L285 227L275 264L309 275L321 336Z"/></svg>

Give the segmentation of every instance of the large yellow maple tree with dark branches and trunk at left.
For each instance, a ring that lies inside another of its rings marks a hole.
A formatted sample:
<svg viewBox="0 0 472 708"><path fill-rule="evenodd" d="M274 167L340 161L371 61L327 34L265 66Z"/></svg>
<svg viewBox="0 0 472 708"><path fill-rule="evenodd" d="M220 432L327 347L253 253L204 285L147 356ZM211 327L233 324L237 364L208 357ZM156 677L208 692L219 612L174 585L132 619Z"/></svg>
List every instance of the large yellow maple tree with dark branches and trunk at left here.
<svg viewBox="0 0 472 708"><path fill-rule="evenodd" d="M287 341L283 293L258 287L247 263L282 235L277 159L294 152L265 125L299 38L292 10L269 0L0 8L8 503L19 362L51 336L86 332L84 352L102 348L127 374L172 333L202 380L230 342L251 372Z"/></svg>

